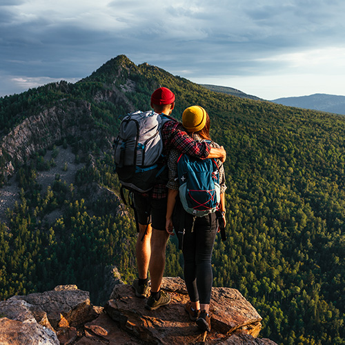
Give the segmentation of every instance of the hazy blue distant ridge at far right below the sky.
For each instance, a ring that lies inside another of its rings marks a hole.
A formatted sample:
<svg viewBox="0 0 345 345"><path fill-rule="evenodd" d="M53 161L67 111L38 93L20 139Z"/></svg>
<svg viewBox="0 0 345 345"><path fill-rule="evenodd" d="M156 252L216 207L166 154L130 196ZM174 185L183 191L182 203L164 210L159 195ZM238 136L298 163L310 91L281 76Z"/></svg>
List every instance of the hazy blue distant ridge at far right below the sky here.
<svg viewBox="0 0 345 345"><path fill-rule="evenodd" d="M309 96L273 99L273 102L282 104L283 106L293 106L345 115L345 96L315 93Z"/></svg>

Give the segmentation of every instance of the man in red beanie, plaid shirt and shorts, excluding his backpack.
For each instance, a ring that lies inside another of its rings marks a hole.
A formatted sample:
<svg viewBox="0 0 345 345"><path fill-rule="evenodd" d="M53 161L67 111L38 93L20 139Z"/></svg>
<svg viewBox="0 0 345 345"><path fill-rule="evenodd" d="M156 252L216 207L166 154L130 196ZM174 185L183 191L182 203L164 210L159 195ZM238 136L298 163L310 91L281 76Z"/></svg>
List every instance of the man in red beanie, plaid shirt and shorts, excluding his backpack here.
<svg viewBox="0 0 345 345"><path fill-rule="evenodd" d="M158 114L170 115L175 106L175 95L168 88L158 88L151 96L151 107ZM194 141L175 119L167 121L161 129L163 155L168 157L172 148L199 158L226 159L226 151L221 148L210 148L206 142ZM139 235L136 244L137 268L139 279L132 287L137 297L145 298L148 294L148 269L150 269L151 294L146 308L155 310L170 302L170 295L161 291L166 243L169 234L166 232L167 181L157 183L150 194L134 193L133 201L139 222Z"/></svg>

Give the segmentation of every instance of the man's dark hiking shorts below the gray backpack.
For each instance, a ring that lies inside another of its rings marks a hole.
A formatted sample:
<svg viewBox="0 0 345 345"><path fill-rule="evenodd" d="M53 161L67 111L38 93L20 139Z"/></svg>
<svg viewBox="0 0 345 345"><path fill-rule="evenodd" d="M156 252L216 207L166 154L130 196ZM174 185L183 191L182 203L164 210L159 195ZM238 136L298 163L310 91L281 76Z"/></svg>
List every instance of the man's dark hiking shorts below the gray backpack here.
<svg viewBox="0 0 345 345"><path fill-rule="evenodd" d="M133 202L139 224L151 223L152 228L156 230L166 230L167 197L152 199L139 193L133 193Z"/></svg>

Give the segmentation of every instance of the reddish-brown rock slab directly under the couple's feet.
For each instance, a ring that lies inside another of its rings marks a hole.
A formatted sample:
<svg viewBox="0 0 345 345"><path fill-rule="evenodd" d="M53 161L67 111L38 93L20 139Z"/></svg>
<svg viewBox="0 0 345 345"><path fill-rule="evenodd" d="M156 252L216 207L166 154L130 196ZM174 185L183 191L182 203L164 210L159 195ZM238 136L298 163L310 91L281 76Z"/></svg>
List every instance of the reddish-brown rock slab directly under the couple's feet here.
<svg viewBox="0 0 345 345"><path fill-rule="evenodd" d="M105 306L106 313L128 333L150 344L275 344L268 339L255 339L262 317L237 290L213 288L212 330L200 333L184 311L188 302L184 281L164 278L161 288L170 293L170 304L148 311L145 301L135 297L131 286L117 285Z"/></svg>

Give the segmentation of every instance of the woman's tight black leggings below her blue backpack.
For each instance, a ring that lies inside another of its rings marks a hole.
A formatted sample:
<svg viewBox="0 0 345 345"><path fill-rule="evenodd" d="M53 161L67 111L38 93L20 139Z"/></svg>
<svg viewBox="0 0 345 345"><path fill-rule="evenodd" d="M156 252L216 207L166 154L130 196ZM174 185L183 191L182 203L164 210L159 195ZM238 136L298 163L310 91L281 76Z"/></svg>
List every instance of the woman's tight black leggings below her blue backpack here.
<svg viewBox="0 0 345 345"><path fill-rule="evenodd" d="M197 217L190 231L192 217L186 215L186 233L184 235L184 280L190 301L210 304L213 285L211 257L217 235L215 213L206 217Z"/></svg>

